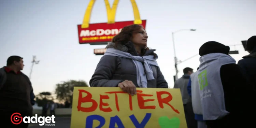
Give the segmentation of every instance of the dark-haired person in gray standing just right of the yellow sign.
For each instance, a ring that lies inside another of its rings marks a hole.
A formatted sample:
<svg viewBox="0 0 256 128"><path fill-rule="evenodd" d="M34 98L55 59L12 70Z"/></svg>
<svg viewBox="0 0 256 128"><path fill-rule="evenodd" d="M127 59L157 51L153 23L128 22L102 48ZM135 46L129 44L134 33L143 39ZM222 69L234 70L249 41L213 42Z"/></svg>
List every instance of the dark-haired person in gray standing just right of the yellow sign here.
<svg viewBox="0 0 256 128"><path fill-rule="evenodd" d="M193 69L191 69L189 67L184 68L183 73L184 73L184 75L180 79L175 81L173 88L180 88L180 90L181 90L181 96L182 96L182 101L183 101L183 107L184 107L187 127L188 128L196 128L197 122L194 118L195 115L193 113L191 98L188 95L188 91L187 91L189 76L190 76L190 74L193 73Z"/></svg>

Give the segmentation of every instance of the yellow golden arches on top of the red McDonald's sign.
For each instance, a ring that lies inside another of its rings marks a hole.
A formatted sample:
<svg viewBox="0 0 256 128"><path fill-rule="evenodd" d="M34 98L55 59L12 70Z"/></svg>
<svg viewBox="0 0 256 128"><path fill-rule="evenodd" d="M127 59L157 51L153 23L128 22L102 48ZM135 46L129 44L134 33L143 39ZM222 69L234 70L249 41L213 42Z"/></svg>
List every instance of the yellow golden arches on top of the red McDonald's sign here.
<svg viewBox="0 0 256 128"><path fill-rule="evenodd" d="M91 0L89 2L88 6L87 6L87 9L86 9L85 14L84 14L83 24L81 26L82 28L88 28L89 27L90 17L91 17L91 10L93 9L95 1L96 0ZM106 5L107 16L108 16L108 24L113 24L113 23L115 23L116 9L117 9L117 5L118 5L119 0L114 0L112 8L110 7L110 4L109 4L108 0L104 0L104 1L105 1L105 5ZM130 1L131 1L131 4L132 4L132 10L133 10L133 15L134 15L133 24L142 24L139 9L137 7L137 4L136 4L135 0L130 0Z"/></svg>

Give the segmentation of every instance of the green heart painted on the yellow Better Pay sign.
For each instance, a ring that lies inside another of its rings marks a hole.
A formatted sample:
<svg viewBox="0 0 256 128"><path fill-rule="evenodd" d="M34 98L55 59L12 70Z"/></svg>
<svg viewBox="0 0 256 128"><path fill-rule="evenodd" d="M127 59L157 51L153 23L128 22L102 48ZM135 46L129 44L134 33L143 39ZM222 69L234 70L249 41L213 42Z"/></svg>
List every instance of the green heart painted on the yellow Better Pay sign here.
<svg viewBox="0 0 256 128"><path fill-rule="evenodd" d="M162 116L158 118L158 124L161 128L179 128L180 123L180 119L177 117L169 119L167 116Z"/></svg>

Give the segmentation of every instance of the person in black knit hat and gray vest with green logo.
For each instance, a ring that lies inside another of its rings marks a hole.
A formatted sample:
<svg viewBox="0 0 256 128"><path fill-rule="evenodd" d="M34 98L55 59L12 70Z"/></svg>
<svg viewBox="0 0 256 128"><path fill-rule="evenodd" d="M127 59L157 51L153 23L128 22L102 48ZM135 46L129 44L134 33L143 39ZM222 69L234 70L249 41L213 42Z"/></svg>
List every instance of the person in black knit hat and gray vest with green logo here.
<svg viewBox="0 0 256 128"><path fill-rule="evenodd" d="M228 55L229 49L215 41L206 42L199 49L200 99L208 128L247 128L255 119L250 114L252 104L247 95L250 84L236 60Z"/></svg>

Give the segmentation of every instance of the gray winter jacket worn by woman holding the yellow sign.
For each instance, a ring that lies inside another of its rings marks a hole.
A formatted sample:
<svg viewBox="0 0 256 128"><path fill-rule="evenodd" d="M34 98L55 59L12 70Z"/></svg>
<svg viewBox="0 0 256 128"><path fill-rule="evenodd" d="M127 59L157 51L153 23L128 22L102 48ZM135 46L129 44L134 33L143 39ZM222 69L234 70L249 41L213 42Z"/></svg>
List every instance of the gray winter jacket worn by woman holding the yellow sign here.
<svg viewBox="0 0 256 128"><path fill-rule="evenodd" d="M128 52L133 56L138 56L132 42L127 42L125 45L120 44L117 47L115 47L113 43L106 46L106 48L110 47L123 52ZM154 55L154 51L155 49L147 50L144 56ZM147 87L168 88L168 84L159 67L151 66L151 68L155 79L148 80ZM136 66L132 59L116 56L103 56L100 59L89 84L91 87L117 87L119 83L125 80L132 81L136 87L139 87L137 84Z"/></svg>

